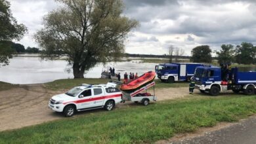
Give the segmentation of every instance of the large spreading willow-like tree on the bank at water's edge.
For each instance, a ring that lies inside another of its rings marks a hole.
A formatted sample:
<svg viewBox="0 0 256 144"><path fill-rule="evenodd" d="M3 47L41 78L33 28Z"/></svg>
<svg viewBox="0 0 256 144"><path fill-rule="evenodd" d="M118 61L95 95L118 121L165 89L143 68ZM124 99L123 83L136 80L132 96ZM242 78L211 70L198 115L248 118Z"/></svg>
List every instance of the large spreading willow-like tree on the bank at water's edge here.
<svg viewBox="0 0 256 144"><path fill-rule="evenodd" d="M62 7L44 18L35 39L43 58L67 56L75 78L96 63L117 60L127 33L138 25L123 16L121 0L57 0Z"/></svg>

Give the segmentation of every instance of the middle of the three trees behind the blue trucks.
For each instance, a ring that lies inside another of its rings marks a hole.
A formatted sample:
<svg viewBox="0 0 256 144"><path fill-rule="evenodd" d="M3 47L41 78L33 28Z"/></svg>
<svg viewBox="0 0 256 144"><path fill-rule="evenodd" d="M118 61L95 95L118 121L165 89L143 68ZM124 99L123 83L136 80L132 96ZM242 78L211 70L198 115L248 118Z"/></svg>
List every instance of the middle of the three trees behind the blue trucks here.
<svg viewBox="0 0 256 144"><path fill-rule="evenodd" d="M221 45L221 50L216 54L219 63L234 62L235 50L233 45Z"/></svg>

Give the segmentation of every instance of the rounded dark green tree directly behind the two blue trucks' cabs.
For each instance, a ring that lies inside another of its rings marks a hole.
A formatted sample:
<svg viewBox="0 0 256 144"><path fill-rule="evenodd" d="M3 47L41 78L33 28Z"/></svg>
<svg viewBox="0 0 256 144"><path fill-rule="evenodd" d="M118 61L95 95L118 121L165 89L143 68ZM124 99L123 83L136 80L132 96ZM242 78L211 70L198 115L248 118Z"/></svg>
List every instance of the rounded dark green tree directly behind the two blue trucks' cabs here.
<svg viewBox="0 0 256 144"><path fill-rule="evenodd" d="M191 54L192 62L211 63L211 49L207 45L196 46L192 49Z"/></svg>

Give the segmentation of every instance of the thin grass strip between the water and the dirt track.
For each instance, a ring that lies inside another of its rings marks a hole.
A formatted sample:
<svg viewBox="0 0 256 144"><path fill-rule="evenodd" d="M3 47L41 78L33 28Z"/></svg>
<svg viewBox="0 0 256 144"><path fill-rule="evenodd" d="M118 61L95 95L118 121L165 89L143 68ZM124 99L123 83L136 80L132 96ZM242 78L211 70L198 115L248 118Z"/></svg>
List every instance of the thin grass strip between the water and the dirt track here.
<svg viewBox="0 0 256 144"><path fill-rule="evenodd" d="M47 89L50 90L59 90L59 89L70 89L74 86L78 86L80 84L106 84L109 79L60 79L53 82L48 82L45 84ZM179 88L188 86L187 82L175 82L173 84L161 82L159 79L155 80L156 88Z"/></svg>

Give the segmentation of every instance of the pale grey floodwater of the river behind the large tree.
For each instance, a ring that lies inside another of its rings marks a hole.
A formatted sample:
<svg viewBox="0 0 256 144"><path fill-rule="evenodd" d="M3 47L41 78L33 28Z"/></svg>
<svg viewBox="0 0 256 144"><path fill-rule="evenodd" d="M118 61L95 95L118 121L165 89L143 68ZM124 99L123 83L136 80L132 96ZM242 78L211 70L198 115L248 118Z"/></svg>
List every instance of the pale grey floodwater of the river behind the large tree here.
<svg viewBox="0 0 256 144"><path fill-rule="evenodd" d="M138 73L142 75L147 71L154 71L157 63L140 63L132 60L131 62L108 63L107 66L115 67L116 73ZM35 84L51 82L56 79L73 79L73 73L68 73L70 65L64 60L41 61L40 58L33 57L14 57L9 65L0 67L0 81L12 84ZM86 78L100 78L104 66L96 65L85 73Z"/></svg>

